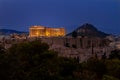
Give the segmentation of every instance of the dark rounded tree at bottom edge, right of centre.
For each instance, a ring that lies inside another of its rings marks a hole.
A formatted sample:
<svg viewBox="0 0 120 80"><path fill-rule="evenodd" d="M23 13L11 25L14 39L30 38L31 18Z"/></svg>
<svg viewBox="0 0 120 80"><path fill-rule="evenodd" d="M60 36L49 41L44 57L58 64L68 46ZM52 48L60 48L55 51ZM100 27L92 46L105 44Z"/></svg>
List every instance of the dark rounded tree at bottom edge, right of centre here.
<svg viewBox="0 0 120 80"><path fill-rule="evenodd" d="M83 64L84 77L89 80L101 80L106 72L106 65L103 61L96 58L90 58Z"/></svg>

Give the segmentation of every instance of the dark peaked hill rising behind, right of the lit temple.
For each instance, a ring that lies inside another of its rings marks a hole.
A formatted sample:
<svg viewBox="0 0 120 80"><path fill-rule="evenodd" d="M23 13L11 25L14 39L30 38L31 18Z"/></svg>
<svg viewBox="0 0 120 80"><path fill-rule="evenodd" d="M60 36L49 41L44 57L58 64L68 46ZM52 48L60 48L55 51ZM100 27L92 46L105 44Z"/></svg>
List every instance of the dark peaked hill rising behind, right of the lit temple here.
<svg viewBox="0 0 120 80"><path fill-rule="evenodd" d="M99 31L92 24L86 23L82 26L78 27L73 32L77 32L78 36L87 36L87 37L106 37L109 34ZM72 32L67 34L66 36L72 36Z"/></svg>

